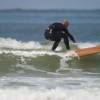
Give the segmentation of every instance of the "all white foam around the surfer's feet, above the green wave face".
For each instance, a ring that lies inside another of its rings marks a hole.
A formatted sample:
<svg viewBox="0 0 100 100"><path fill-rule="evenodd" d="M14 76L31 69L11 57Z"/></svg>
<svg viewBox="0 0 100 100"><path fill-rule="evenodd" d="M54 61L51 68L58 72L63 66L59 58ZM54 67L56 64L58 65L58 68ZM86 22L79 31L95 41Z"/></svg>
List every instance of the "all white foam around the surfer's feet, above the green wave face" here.
<svg viewBox="0 0 100 100"><path fill-rule="evenodd" d="M62 46L57 48L58 52L51 51L52 44L41 44L36 41L22 42L17 41L12 38L0 38L0 54L12 54L15 56L23 56L23 57L37 57L37 56L45 56L45 55L56 55L61 58L68 58L73 55L73 50L68 52L63 50ZM95 42L85 42L85 43L75 43L71 44L72 48L88 48L99 45L99 43ZM65 53L66 56L65 56Z"/></svg>

